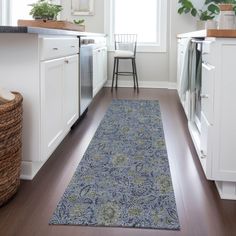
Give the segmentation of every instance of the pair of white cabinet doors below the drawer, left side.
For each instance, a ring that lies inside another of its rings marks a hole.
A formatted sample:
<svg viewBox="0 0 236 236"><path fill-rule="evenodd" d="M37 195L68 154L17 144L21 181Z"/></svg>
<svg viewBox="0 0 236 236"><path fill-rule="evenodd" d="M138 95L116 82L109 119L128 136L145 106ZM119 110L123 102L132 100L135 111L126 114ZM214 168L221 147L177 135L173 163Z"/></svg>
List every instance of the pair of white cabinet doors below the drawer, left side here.
<svg viewBox="0 0 236 236"><path fill-rule="evenodd" d="M41 62L42 161L78 119L78 88L78 55Z"/></svg>

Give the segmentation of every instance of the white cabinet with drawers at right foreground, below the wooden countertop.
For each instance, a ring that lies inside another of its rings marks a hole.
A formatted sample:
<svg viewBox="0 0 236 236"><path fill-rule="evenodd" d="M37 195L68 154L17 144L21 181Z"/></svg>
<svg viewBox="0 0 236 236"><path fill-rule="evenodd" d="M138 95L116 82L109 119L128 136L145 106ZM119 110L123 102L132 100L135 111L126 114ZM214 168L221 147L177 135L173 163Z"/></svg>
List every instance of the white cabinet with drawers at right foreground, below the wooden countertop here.
<svg viewBox="0 0 236 236"><path fill-rule="evenodd" d="M236 39L206 38L202 48L200 143L190 134L207 179L236 200ZM189 120L191 124L191 120Z"/></svg>

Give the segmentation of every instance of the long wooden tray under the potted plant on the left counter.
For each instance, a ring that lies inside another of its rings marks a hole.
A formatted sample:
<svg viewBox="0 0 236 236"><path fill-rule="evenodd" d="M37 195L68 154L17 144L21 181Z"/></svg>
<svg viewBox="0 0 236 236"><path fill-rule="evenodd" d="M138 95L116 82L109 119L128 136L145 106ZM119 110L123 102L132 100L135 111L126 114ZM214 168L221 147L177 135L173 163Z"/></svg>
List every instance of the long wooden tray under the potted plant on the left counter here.
<svg viewBox="0 0 236 236"><path fill-rule="evenodd" d="M69 21L54 21L54 20L18 20L18 26L40 27L50 29L85 31L84 25L76 25Z"/></svg>

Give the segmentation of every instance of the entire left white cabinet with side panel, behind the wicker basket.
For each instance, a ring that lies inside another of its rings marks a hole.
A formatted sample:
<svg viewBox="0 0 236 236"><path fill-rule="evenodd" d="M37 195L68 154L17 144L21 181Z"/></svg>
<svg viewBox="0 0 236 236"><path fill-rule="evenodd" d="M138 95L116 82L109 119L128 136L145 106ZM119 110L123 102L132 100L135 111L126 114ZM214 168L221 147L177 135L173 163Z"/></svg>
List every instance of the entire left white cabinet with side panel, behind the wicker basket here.
<svg viewBox="0 0 236 236"><path fill-rule="evenodd" d="M0 84L23 95L21 178L33 179L78 118L77 36L0 35Z"/></svg>

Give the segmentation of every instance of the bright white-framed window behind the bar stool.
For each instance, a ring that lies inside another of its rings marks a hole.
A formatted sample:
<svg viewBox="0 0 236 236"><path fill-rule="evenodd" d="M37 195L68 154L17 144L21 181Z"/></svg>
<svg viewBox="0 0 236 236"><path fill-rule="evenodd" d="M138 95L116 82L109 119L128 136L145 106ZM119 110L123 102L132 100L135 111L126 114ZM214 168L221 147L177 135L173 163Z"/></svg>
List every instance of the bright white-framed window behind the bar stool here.
<svg viewBox="0 0 236 236"><path fill-rule="evenodd" d="M105 30L112 46L113 34L138 34L138 51L165 52L166 0L106 0Z"/></svg>

